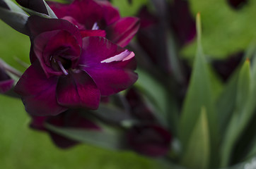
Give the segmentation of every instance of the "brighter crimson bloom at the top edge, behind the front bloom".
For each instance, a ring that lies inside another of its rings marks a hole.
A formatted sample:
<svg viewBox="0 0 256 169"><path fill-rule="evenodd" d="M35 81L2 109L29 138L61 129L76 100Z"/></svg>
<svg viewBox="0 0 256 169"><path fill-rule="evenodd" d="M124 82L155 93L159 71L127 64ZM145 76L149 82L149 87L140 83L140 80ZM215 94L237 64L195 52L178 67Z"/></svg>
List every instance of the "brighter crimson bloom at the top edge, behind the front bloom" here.
<svg viewBox="0 0 256 169"><path fill-rule="evenodd" d="M139 19L121 18L109 1L74 0L71 4L48 2L58 18L69 20L79 30L105 30L106 38L127 46L139 29Z"/></svg>

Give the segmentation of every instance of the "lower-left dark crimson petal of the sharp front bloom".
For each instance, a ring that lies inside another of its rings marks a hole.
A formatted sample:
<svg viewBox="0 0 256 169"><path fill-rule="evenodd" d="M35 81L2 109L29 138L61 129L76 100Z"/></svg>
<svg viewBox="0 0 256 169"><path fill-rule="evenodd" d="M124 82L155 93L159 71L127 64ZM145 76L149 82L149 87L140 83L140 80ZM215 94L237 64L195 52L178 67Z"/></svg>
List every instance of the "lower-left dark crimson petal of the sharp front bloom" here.
<svg viewBox="0 0 256 169"><path fill-rule="evenodd" d="M47 78L40 63L35 61L25 70L14 90L21 95L25 109L31 115L57 115L66 111L56 99L58 77Z"/></svg>

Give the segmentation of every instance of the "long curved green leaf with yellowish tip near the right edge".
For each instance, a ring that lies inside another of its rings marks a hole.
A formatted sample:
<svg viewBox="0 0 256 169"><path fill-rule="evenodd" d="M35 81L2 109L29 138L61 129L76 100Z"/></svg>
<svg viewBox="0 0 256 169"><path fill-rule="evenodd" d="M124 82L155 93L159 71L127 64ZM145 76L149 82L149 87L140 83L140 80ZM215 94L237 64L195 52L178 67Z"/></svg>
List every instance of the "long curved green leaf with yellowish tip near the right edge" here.
<svg viewBox="0 0 256 169"><path fill-rule="evenodd" d="M228 125L228 129L226 130L223 139L221 148L221 167L225 167L229 164L233 146L248 125L248 120L252 117L253 110L255 109L255 102L251 101L251 97L252 93L255 92L253 92L251 88L250 61L246 60L238 75L235 110L231 116L231 122ZM255 96L253 97L255 98Z"/></svg>

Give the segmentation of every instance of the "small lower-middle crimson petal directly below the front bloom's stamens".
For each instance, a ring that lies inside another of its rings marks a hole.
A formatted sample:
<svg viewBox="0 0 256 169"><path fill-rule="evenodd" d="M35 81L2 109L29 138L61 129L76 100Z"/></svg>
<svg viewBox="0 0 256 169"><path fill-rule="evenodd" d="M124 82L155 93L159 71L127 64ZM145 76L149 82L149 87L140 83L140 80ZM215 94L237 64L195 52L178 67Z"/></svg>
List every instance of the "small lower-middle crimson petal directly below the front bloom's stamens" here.
<svg viewBox="0 0 256 169"><path fill-rule="evenodd" d="M82 70L59 77L57 101L62 106L97 109L100 104L100 90L93 79Z"/></svg>

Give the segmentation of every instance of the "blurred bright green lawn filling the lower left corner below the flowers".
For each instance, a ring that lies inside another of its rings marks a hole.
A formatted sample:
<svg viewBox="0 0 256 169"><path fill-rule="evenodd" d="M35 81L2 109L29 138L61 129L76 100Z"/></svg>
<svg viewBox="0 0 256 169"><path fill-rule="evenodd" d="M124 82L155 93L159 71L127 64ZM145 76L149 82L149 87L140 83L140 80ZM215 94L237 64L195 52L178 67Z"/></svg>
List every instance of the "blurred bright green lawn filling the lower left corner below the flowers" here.
<svg viewBox="0 0 256 169"><path fill-rule="evenodd" d="M116 152L80 144L58 149L45 132L31 130L21 100L0 95L0 166L8 169L141 169L158 168L131 152Z"/></svg>

